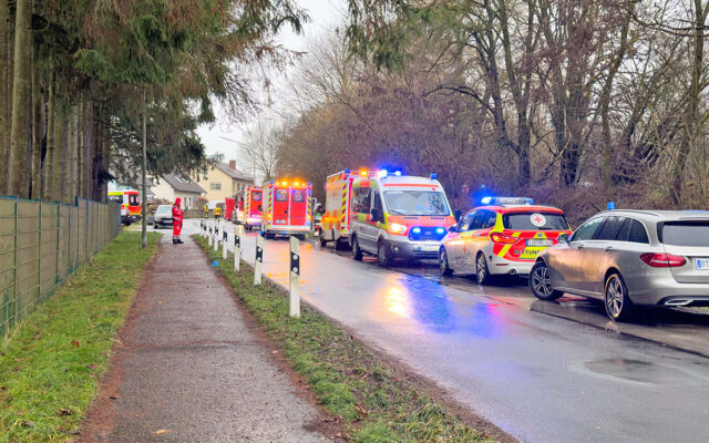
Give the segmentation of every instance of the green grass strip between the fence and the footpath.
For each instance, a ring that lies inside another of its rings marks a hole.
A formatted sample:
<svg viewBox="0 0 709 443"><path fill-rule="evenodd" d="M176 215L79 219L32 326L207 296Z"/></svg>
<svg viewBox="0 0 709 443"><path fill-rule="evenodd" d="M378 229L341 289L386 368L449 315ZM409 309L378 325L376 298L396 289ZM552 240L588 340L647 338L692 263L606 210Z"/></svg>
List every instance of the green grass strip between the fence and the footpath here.
<svg viewBox="0 0 709 443"><path fill-rule="evenodd" d="M74 436L158 238L121 233L0 347L0 441Z"/></svg>

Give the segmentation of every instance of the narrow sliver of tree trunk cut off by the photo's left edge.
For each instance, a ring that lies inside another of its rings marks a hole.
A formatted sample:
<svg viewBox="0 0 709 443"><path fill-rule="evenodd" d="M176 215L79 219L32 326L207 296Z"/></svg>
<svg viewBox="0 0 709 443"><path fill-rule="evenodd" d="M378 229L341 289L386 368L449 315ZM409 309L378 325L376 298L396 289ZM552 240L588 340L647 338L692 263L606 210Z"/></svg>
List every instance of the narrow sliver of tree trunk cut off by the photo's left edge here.
<svg viewBox="0 0 709 443"><path fill-rule="evenodd" d="M0 158L8 158L10 144L8 137L10 133L10 63L9 63L9 9L8 2L0 1ZM0 195L7 194L8 189L8 167L0 171Z"/></svg>

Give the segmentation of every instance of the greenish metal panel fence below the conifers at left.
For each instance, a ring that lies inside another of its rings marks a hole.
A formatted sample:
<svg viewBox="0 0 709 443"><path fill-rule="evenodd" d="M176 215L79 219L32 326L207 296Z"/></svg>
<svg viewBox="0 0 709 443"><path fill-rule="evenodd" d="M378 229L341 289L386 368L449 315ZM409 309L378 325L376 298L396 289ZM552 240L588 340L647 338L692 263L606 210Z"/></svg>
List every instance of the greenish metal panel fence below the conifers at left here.
<svg viewBox="0 0 709 443"><path fill-rule="evenodd" d="M114 203L0 197L0 337L121 230Z"/></svg>

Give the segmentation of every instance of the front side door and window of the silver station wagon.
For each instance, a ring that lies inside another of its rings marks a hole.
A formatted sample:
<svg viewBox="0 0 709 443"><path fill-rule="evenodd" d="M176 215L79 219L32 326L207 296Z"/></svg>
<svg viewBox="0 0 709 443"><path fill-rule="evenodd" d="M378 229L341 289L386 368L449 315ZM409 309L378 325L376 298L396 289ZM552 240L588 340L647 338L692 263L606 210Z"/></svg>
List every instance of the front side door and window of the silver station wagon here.
<svg viewBox="0 0 709 443"><path fill-rule="evenodd" d="M584 281L588 272L585 269L584 249L604 220L604 216L590 218L576 229L567 244L549 249L547 265L555 287L585 290Z"/></svg>

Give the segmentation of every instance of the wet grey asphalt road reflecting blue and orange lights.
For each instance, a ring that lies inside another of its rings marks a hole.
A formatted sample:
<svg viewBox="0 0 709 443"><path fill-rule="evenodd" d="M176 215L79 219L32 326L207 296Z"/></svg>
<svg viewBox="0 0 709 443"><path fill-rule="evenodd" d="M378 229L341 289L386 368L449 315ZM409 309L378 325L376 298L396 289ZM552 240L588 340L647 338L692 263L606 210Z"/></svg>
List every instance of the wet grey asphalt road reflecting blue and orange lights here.
<svg viewBox="0 0 709 443"><path fill-rule="evenodd" d="M253 262L255 236L243 245ZM265 272L282 285L287 260L287 241L266 241ZM440 285L425 268L380 269L312 244L301 271L305 300L520 440L709 441L709 360L618 333L594 303L563 301L580 312L569 321L532 309L521 284Z"/></svg>

